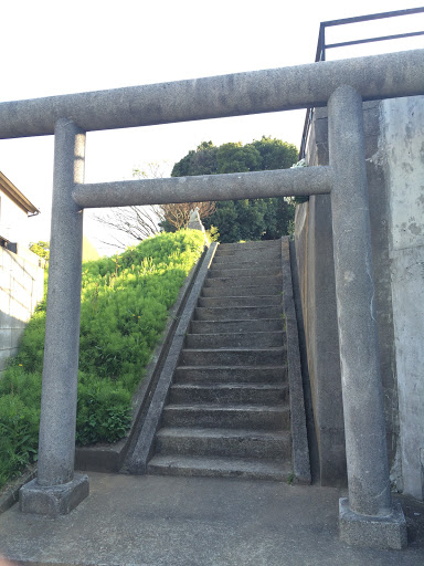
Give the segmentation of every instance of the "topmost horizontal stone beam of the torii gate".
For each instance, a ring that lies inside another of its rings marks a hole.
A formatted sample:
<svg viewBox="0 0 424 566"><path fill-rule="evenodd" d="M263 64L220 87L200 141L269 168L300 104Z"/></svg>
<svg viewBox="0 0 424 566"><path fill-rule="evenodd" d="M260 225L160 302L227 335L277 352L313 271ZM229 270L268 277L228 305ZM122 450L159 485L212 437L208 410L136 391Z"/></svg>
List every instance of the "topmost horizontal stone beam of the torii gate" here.
<svg viewBox="0 0 424 566"><path fill-rule="evenodd" d="M86 132L325 106L340 84L367 98L422 94L422 50L0 104L0 138Z"/></svg>

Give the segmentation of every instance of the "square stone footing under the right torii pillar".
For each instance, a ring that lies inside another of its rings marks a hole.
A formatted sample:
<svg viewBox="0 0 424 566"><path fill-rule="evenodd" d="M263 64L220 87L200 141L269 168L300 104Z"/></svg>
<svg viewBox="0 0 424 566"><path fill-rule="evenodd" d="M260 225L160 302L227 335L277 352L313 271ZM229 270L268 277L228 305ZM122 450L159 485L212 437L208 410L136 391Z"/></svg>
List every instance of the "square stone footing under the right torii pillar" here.
<svg viewBox="0 0 424 566"><path fill-rule="evenodd" d="M347 497L339 500L340 539L363 548L401 549L407 546L406 521L400 503L393 503L388 516L358 515Z"/></svg>

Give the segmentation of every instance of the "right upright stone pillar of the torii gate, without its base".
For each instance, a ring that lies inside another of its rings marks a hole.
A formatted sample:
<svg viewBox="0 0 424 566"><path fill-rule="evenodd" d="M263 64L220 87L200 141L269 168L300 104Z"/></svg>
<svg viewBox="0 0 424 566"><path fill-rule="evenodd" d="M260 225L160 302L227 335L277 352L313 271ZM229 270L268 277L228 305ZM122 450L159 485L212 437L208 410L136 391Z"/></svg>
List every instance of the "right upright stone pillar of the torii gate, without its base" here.
<svg viewBox="0 0 424 566"><path fill-rule="evenodd" d="M386 515L391 496L361 96L349 86L338 88L328 114L349 505L360 515Z"/></svg>

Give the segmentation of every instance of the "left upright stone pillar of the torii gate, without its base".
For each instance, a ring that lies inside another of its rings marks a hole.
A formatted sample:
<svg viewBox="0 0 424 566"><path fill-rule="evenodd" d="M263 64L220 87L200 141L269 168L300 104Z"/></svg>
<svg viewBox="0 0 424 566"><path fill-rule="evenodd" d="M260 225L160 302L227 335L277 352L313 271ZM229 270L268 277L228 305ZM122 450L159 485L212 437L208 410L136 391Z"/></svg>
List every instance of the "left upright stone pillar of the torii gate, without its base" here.
<svg viewBox="0 0 424 566"><path fill-rule="evenodd" d="M85 133L70 119L55 129L52 240L49 269L38 485L74 476L80 348L83 213L72 200L84 180ZM40 492L41 493L41 492ZM22 506L25 510L26 505Z"/></svg>

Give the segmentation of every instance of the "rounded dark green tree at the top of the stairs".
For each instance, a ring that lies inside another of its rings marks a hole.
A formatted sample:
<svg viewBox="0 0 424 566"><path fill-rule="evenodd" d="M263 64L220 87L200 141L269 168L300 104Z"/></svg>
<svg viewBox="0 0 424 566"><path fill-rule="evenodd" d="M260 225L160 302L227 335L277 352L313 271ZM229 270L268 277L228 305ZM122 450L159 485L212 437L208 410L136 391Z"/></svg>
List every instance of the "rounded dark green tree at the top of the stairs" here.
<svg viewBox="0 0 424 566"><path fill-rule="evenodd" d="M172 177L287 169L297 161L293 144L262 136L251 144L227 143L219 147L203 142L173 168ZM288 233L294 206L283 197L216 202L215 211L203 219L206 229L218 228L221 242L274 240Z"/></svg>

